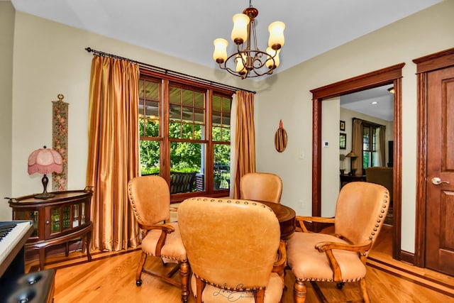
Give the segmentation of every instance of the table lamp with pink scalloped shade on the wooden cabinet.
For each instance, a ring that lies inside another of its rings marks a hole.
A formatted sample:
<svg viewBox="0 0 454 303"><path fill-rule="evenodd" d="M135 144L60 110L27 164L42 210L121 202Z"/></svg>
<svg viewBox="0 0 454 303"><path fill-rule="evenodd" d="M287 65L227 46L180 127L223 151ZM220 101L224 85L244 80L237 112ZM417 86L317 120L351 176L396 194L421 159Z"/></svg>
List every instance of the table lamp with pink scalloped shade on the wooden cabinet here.
<svg viewBox="0 0 454 303"><path fill-rule="evenodd" d="M28 156L28 175L32 175L35 172L43 174L43 188L44 191L42 194L36 194L34 197L37 199L47 199L54 197L55 194L48 192L48 182L49 179L46 176L52 172L57 172L60 174L63 171L63 159L62 155L57 152L57 150L52 150L52 148L40 148L34 150L31 155Z"/></svg>

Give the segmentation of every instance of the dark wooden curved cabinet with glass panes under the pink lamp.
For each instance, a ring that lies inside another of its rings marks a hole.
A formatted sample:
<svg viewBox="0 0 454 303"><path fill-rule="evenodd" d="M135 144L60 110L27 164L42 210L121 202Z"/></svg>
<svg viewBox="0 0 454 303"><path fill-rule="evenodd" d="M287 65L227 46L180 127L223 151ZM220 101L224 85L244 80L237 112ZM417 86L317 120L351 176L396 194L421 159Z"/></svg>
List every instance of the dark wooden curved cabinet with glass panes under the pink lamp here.
<svg viewBox="0 0 454 303"><path fill-rule="evenodd" d="M13 209L13 220L31 220L33 233L25 245L27 252L38 250L40 268L44 269L45 249L50 246L66 244L65 253L69 253L69 242L82 239L82 250L86 248L88 260L92 260L89 245L92 238L90 221L90 202L92 190L72 190L53 192L55 197L35 199L34 195L9 199Z"/></svg>

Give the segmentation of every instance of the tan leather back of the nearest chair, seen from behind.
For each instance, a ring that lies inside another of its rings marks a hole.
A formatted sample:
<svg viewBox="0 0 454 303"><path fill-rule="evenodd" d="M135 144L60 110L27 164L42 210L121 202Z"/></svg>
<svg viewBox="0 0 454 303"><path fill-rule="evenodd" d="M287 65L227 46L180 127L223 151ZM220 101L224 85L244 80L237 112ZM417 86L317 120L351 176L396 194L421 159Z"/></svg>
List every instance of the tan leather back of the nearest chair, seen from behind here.
<svg viewBox="0 0 454 303"><path fill-rule="evenodd" d="M179 206L178 224L196 277L232 290L267 286L280 241L279 221L268 206L191 198Z"/></svg>

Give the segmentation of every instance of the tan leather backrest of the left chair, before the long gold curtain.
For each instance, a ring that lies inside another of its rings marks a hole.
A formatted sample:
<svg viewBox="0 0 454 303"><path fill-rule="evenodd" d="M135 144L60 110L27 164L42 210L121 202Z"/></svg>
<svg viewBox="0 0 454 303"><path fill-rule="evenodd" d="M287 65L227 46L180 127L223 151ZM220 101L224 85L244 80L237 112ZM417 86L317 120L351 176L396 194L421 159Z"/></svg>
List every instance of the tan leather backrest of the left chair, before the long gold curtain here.
<svg viewBox="0 0 454 303"><path fill-rule="evenodd" d="M128 196L139 224L153 225L169 220L169 185L162 177L149 175L133 178L128 182Z"/></svg>

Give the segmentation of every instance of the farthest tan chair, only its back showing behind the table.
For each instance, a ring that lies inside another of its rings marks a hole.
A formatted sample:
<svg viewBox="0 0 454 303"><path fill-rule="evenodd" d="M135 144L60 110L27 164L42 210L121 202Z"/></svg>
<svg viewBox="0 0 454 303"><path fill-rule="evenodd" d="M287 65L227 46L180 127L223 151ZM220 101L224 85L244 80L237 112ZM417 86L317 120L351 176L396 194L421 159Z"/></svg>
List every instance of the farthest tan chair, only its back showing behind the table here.
<svg viewBox="0 0 454 303"><path fill-rule="evenodd" d="M240 198L279 203L282 180L269 172L249 172L240 179Z"/></svg>

